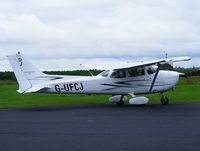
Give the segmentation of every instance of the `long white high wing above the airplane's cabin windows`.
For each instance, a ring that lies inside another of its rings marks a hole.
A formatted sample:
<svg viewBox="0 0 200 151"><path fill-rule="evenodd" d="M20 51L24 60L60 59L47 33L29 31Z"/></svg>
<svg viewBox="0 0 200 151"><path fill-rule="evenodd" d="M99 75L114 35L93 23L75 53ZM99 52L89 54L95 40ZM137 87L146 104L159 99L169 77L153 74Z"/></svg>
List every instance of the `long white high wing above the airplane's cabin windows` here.
<svg viewBox="0 0 200 151"><path fill-rule="evenodd" d="M119 70L119 69L140 68L140 67L144 67L144 66L166 64L166 63L173 63L173 62L179 62L179 61L189 61L189 60L191 60L190 57L183 56L183 57L167 58L167 59L160 59L160 60L153 60L153 61L127 63L124 66L114 66L114 67L112 66L111 68L108 68L108 67L97 67L97 66L91 66L91 65L86 65L86 64L82 64L82 66L85 66L85 67L87 67L89 69Z"/></svg>

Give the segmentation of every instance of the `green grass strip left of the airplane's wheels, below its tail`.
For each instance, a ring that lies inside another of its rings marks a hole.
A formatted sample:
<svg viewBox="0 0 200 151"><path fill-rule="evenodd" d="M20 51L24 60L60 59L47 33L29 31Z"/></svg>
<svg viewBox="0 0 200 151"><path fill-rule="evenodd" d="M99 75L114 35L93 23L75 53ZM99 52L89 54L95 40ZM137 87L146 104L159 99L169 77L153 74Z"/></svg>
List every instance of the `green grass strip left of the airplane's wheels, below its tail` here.
<svg viewBox="0 0 200 151"><path fill-rule="evenodd" d="M66 94L19 94L17 84L0 85L0 108L106 103L106 96Z"/></svg>

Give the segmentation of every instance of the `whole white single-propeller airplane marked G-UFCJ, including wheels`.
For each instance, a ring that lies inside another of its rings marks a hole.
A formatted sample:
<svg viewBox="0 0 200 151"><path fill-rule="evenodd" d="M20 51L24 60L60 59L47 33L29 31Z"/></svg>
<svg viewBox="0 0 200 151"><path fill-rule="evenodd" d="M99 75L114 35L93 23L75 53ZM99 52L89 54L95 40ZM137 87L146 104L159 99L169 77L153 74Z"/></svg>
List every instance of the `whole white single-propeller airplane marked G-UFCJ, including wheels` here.
<svg viewBox="0 0 200 151"><path fill-rule="evenodd" d="M190 57L166 58L148 62L129 63L105 69L96 76L47 75L38 70L20 52L7 56L19 84L19 93L106 94L110 103L143 106L147 97L138 94L161 94L161 103L168 104L164 92L172 90L183 73L160 70L166 63L189 61Z"/></svg>

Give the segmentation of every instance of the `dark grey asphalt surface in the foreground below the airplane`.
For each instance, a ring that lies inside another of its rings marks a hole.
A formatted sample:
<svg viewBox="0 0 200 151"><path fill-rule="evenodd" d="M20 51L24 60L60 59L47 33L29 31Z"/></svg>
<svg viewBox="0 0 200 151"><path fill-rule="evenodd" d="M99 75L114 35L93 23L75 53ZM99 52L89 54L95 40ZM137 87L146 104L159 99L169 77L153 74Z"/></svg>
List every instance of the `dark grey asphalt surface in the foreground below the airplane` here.
<svg viewBox="0 0 200 151"><path fill-rule="evenodd" d="M200 103L0 109L0 151L200 150Z"/></svg>

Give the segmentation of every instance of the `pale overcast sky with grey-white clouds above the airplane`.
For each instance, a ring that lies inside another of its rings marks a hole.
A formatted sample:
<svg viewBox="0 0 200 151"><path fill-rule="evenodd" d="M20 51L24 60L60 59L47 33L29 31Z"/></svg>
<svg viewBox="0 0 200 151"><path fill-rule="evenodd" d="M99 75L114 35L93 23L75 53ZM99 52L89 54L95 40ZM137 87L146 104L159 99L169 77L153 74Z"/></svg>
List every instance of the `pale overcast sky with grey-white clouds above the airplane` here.
<svg viewBox="0 0 200 151"><path fill-rule="evenodd" d="M200 66L199 49L199 0L0 1L0 70L19 50L42 70L67 70L165 53Z"/></svg>

